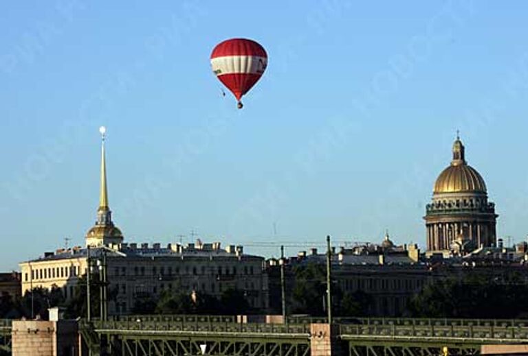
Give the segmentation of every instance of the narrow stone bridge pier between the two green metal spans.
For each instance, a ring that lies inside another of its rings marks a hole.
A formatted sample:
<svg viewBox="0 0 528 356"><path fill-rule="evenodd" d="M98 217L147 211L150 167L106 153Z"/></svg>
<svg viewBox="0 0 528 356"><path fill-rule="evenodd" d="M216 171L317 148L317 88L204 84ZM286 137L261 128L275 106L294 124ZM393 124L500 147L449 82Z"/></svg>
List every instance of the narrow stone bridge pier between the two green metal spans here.
<svg viewBox="0 0 528 356"><path fill-rule="evenodd" d="M344 355L337 325L310 324L311 356Z"/></svg>

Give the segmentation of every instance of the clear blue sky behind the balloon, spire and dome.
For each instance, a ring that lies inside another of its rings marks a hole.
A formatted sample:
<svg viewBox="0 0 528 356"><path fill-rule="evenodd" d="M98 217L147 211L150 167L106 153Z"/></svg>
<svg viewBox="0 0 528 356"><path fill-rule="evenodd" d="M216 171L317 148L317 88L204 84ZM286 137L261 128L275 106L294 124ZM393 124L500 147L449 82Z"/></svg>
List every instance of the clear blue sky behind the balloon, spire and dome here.
<svg viewBox="0 0 528 356"><path fill-rule="evenodd" d="M456 130L528 232L525 1L83 1L0 4L0 269L83 245L98 127L126 241L425 244ZM236 110L210 71L232 37L268 67ZM274 225L276 228L274 229ZM295 253L302 247L290 247Z"/></svg>

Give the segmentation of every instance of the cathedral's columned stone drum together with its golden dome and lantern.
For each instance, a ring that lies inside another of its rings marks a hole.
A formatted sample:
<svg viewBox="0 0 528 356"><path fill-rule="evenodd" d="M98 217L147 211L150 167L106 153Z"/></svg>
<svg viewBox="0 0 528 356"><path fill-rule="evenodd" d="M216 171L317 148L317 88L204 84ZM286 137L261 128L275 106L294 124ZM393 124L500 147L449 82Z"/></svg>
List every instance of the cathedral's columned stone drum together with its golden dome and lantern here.
<svg viewBox="0 0 528 356"><path fill-rule="evenodd" d="M434 183L432 202L426 206L427 250L447 252L494 246L495 204L487 201L484 179L465 161L459 137L453 160Z"/></svg>

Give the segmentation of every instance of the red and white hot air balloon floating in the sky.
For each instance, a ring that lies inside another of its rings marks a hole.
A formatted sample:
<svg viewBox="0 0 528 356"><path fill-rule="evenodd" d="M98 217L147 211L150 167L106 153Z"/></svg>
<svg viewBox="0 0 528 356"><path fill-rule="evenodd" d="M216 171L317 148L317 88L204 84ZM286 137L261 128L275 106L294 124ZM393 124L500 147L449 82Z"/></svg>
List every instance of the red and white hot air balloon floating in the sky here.
<svg viewBox="0 0 528 356"><path fill-rule="evenodd" d="M265 49L254 40L232 38L219 43L211 54L211 67L242 108L242 95L259 81L267 66Z"/></svg>

